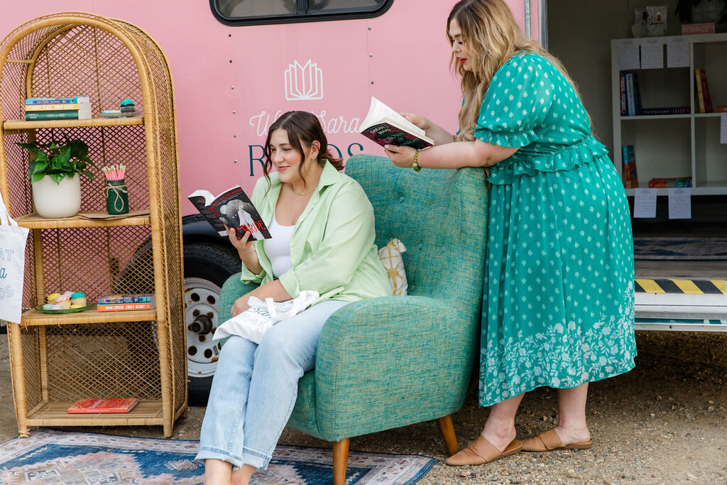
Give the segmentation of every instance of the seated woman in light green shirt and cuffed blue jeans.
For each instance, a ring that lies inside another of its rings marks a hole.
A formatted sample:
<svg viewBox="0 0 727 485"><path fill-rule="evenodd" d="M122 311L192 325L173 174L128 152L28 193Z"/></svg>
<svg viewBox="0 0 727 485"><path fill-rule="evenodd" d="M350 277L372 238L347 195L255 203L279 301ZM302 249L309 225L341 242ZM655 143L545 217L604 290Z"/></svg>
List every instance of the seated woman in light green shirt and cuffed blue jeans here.
<svg viewBox="0 0 727 485"><path fill-rule="evenodd" d="M232 316L248 308L251 296L284 301L302 290L321 296L269 329L260 345L233 336L222 347L196 457L205 462L205 484L247 484L257 468L268 467L298 380L315 365L326 320L348 302L391 294L374 244L371 203L361 185L338 172L342 161L329 152L316 116L281 116L268 132L265 157L252 202L273 237L247 242L249 233L237 239L228 230L243 262L242 281L260 283L236 300Z"/></svg>

